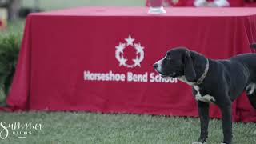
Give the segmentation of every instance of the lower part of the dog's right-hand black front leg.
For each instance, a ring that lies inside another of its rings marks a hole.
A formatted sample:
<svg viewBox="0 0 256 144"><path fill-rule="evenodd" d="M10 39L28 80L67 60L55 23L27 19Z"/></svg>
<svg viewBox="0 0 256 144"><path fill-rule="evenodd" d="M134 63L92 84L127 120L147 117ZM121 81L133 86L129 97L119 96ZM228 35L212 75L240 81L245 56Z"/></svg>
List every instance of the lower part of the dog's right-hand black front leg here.
<svg viewBox="0 0 256 144"><path fill-rule="evenodd" d="M222 110L222 129L224 140L223 143L231 144L232 141L232 108L231 104L226 106L221 106Z"/></svg>

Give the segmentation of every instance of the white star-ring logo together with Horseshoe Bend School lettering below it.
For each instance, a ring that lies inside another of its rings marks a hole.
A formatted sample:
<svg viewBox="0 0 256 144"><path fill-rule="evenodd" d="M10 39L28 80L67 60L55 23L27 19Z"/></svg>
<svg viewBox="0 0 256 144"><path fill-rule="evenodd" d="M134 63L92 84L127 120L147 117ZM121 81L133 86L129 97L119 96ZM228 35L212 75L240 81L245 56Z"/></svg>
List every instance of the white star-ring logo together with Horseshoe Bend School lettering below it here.
<svg viewBox="0 0 256 144"><path fill-rule="evenodd" d="M144 47L140 42L134 42L135 39L128 35L124 38L125 41L119 42L115 46L115 58L119 62L119 66L127 68L140 67L144 59ZM153 67L151 67L153 70ZM125 70L126 71L126 70ZM126 72L118 72L115 70L84 70L83 78L86 82L100 81L100 82L162 82L162 83L177 83L177 78L162 78L161 74L156 72L134 72L127 70Z"/></svg>

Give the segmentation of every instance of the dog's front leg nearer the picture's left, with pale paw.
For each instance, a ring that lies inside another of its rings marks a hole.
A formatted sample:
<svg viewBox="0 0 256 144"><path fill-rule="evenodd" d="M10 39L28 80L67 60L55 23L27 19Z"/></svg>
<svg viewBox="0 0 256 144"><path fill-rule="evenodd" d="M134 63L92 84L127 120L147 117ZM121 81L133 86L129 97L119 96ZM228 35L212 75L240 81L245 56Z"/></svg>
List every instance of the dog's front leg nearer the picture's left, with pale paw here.
<svg viewBox="0 0 256 144"><path fill-rule="evenodd" d="M200 118L201 134L196 143L204 143L208 138L208 124L209 124L209 103L198 101L198 114Z"/></svg>

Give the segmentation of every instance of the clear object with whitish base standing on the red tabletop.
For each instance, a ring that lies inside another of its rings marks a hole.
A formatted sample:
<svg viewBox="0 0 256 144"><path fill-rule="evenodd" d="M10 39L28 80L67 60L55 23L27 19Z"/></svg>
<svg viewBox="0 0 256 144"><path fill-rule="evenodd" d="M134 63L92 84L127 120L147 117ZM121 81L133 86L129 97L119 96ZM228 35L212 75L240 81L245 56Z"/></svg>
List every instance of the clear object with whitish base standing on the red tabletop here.
<svg viewBox="0 0 256 144"><path fill-rule="evenodd" d="M150 2L150 10L148 14L165 14L166 10L164 10L162 6L162 0L149 0Z"/></svg>

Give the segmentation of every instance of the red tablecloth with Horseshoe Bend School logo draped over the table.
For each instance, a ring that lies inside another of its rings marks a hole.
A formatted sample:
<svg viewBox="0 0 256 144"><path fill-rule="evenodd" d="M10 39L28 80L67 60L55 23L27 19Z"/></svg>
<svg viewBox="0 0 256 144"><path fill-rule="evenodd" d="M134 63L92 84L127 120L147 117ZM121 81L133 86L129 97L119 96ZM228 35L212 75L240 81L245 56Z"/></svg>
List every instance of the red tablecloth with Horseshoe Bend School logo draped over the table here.
<svg viewBox="0 0 256 144"><path fill-rule="evenodd" d="M187 86L152 68L166 50L187 46L209 58L251 53L252 8L83 7L30 14L7 102L14 110L88 110L198 116ZM159 82L161 81L161 82ZM211 118L219 118L217 106ZM234 121L256 122L245 95Z"/></svg>

